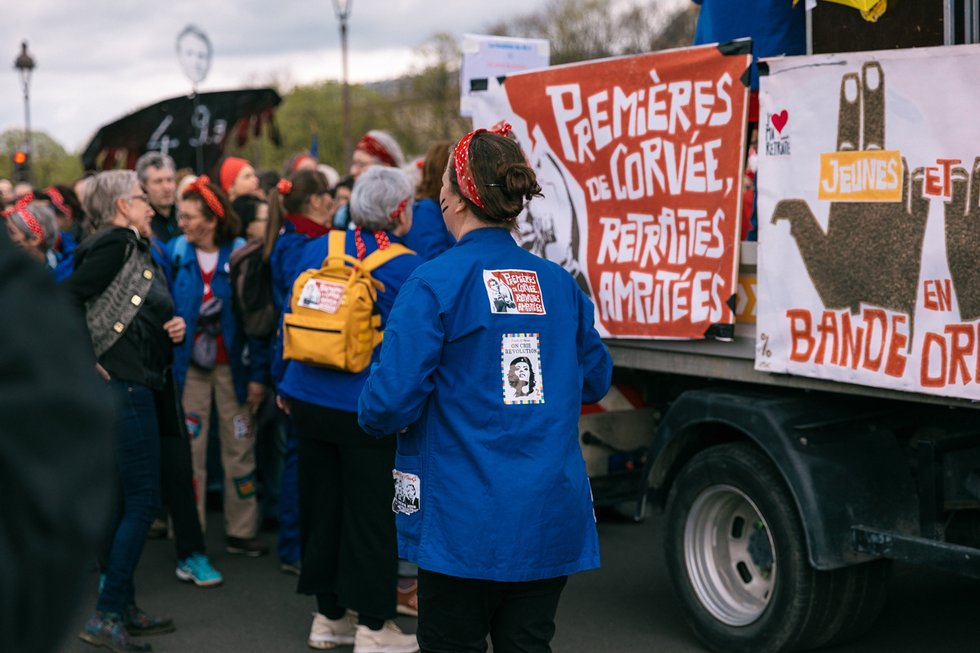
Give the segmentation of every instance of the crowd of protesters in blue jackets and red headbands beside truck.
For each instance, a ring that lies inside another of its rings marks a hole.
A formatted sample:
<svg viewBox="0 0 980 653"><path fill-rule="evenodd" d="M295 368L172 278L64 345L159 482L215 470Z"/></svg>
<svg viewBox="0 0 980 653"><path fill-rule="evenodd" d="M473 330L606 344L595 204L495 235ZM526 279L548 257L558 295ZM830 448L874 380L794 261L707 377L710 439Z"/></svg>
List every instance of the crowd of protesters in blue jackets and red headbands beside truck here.
<svg viewBox="0 0 980 653"><path fill-rule="evenodd" d="M0 240L56 282L115 407L78 636L148 651L179 627L139 607L148 537L169 533L176 579L209 588L205 530L258 558L272 524L314 599L312 648L550 650L567 576L599 562L577 419L611 361L575 280L511 236L541 188L507 126L412 162L372 130L345 176L307 152L282 177L237 157L211 173L150 151L46 187L0 179ZM507 275L536 284L533 311L500 301ZM321 320L362 305L334 351Z"/></svg>

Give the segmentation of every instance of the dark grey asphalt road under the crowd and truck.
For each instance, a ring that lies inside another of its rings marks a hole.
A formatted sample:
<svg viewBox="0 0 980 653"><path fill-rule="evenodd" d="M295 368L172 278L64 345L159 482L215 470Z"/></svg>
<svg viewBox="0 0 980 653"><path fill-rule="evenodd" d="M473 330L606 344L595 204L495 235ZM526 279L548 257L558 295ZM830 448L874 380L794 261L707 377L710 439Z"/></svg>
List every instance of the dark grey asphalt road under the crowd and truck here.
<svg viewBox="0 0 980 653"><path fill-rule="evenodd" d="M211 520L220 524L220 515ZM702 648L687 628L664 568L661 519L643 524L599 524L603 567L570 579L558 612L557 653L696 653ZM275 535L263 533L273 544ZM279 571L276 558L231 556L219 534L208 536L223 586L200 589L174 577L173 544L149 541L137 573L137 600L176 620L177 632L147 638L155 651L192 653L301 652L306 646L313 600L295 593L296 579ZM97 576L61 648L95 649L75 638L94 607ZM414 632L414 619L399 618ZM349 653L350 647L334 649ZM899 566L876 627L834 653L980 653L980 582L918 567Z"/></svg>

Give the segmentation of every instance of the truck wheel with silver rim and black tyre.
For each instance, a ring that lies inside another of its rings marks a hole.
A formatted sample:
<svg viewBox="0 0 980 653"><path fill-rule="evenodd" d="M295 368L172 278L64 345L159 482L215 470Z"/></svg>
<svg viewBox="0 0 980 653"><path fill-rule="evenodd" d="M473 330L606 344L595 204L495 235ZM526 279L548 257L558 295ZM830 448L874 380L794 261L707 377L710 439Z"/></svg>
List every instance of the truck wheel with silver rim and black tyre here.
<svg viewBox="0 0 980 653"><path fill-rule="evenodd" d="M664 549L688 621L715 651L809 648L837 614L844 577L810 566L789 490L752 445L712 447L684 466Z"/></svg>

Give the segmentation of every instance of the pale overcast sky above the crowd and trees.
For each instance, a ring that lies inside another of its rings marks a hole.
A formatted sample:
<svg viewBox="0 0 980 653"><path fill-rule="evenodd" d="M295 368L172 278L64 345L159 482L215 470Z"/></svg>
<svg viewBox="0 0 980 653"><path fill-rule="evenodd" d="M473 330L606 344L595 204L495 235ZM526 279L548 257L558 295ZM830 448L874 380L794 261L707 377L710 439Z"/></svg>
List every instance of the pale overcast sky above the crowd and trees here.
<svg viewBox="0 0 980 653"><path fill-rule="evenodd" d="M480 33L502 16L546 0L356 0L350 18L351 81L397 77L435 32ZM340 78L331 0L4 0L0 10L0 132L24 125L20 42L37 62L31 127L69 151L139 107L187 93L175 40L189 23L210 37L214 59L201 91Z"/></svg>

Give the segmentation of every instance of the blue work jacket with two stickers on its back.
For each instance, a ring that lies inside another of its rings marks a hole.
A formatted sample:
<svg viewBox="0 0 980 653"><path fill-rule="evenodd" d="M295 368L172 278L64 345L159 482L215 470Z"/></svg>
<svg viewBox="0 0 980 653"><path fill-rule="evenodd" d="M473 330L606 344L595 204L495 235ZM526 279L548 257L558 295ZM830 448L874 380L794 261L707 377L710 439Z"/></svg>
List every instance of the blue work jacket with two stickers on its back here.
<svg viewBox="0 0 980 653"><path fill-rule="evenodd" d="M489 271L508 280L513 308L494 301ZM402 557L508 582L599 566L578 444L581 404L612 376L593 312L565 270L497 228L466 234L405 283L358 406L368 433L407 427L393 504ZM534 383L518 396L521 358ZM418 509L399 503L415 494Z"/></svg>

